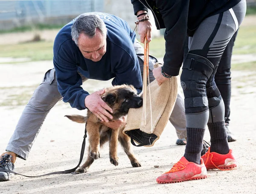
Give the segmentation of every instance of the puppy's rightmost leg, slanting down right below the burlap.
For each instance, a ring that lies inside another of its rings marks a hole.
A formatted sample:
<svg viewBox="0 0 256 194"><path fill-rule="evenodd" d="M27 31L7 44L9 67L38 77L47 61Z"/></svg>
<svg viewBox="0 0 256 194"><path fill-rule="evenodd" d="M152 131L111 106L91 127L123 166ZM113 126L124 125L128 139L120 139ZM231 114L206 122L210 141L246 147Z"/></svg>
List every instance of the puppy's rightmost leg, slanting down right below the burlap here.
<svg viewBox="0 0 256 194"><path fill-rule="evenodd" d="M119 142L121 143L121 146L123 147L125 153L127 154L128 158L131 161L131 165L133 167L140 167L141 164L140 162L136 159L134 156L134 153L132 151L130 139L122 133L122 130L119 131L119 137L118 137Z"/></svg>

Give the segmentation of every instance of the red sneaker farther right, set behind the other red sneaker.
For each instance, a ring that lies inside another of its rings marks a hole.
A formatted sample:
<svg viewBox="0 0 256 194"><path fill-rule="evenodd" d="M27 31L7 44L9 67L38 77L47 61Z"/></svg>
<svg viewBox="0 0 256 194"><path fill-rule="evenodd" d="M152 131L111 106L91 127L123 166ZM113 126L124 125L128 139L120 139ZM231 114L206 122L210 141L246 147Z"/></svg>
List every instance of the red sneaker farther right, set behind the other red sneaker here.
<svg viewBox="0 0 256 194"><path fill-rule="evenodd" d="M216 152L205 153L201 157L204 160L204 164L209 169L220 169L220 170L232 170L237 166L236 159L233 155L232 149L227 154L218 154Z"/></svg>

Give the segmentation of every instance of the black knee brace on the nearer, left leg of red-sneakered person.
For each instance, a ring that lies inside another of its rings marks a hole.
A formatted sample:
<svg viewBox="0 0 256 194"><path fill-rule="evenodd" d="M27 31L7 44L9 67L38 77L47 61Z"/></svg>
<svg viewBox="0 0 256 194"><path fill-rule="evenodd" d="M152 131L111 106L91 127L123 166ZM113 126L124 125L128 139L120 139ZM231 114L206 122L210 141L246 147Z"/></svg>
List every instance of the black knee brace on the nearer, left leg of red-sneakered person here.
<svg viewBox="0 0 256 194"><path fill-rule="evenodd" d="M206 83L215 68L208 59L188 53L180 77L186 114L208 110Z"/></svg>

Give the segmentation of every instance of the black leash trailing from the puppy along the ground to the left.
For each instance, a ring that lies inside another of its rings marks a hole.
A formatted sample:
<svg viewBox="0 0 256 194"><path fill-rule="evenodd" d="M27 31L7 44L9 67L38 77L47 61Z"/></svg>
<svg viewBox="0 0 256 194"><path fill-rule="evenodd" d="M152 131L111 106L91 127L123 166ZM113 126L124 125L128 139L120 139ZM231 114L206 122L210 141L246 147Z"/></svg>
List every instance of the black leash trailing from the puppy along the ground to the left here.
<svg viewBox="0 0 256 194"><path fill-rule="evenodd" d="M10 172L10 173L13 173L13 174L18 174L18 175L21 175L21 176L24 176L24 177L43 177L43 176L47 176L47 175L52 175L52 174L79 174L79 173L76 173L76 169L79 167L79 165L81 164L82 160L83 160L83 157L84 157L84 149L85 149L85 139L87 138L87 130L86 130L86 125L85 125L85 130L84 130L84 141L82 143L82 148L81 148L81 153L80 153L80 160L79 160L79 164L73 168L73 169L69 169L69 170L65 170L65 171L58 171L58 172L51 172L51 173L47 173L47 174L42 174L42 175L38 175L38 176L26 176L26 175L23 175L23 174L19 174L17 172L13 172L11 170L7 170L7 169L0 169L0 172Z"/></svg>

